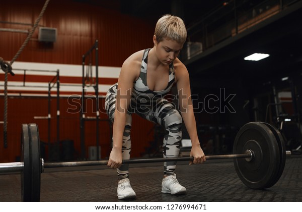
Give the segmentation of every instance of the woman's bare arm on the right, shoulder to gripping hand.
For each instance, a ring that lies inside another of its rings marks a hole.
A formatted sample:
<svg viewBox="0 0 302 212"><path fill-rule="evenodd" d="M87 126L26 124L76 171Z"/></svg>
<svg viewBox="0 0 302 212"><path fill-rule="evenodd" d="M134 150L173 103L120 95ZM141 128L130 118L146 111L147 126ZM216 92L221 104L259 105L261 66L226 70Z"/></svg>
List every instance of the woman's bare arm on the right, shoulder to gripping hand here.
<svg viewBox="0 0 302 212"><path fill-rule="evenodd" d="M194 156L193 164L199 164L205 161L205 155L200 147L197 136L196 121L191 99L189 73L187 68L180 63L177 66L175 74L177 79L180 112L192 142L190 156Z"/></svg>

